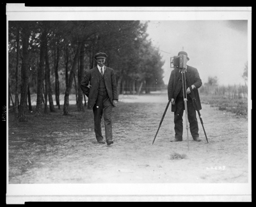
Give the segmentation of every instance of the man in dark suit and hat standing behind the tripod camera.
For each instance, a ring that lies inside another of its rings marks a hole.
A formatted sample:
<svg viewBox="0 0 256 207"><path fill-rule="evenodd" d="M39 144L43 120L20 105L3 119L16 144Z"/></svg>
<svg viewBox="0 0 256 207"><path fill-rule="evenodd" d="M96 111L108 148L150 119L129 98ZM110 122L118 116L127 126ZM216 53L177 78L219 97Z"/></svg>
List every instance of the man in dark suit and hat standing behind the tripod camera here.
<svg viewBox="0 0 256 207"><path fill-rule="evenodd" d="M184 54L187 56L189 60L188 54L184 51L179 52L180 54ZM198 134L198 122L196 119L196 110L201 110L202 106L200 103L200 97L198 93L198 88L202 86L202 80L200 79L199 73L196 68L191 66L186 66L186 86L187 89L184 89L184 93L188 94L188 121L189 121L189 129L194 141L201 141L199 139ZM191 91L189 89L189 83L191 84L191 88L194 91L194 95L196 98L196 105L198 109L196 109L195 103L192 101L191 98ZM182 141L182 134L183 134L183 123L182 123L182 116L184 112L184 97L183 97L183 89L182 86L182 76L180 73L180 68L176 67L172 70L170 75L170 80L168 83L168 99L171 100L172 103L172 112L174 112L174 130L175 130L175 139L174 141Z"/></svg>

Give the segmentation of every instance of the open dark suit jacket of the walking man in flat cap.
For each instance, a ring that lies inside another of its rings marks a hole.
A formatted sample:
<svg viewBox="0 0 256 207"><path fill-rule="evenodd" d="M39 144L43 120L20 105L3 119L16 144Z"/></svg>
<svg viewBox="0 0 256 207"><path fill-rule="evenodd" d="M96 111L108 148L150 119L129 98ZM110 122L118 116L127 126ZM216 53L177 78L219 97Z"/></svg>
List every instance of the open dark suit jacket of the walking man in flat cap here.
<svg viewBox="0 0 256 207"><path fill-rule="evenodd" d="M104 81L108 92L109 100L113 105L113 100L118 100L115 72L112 68L106 66L104 72ZM90 88L88 88L90 84ZM83 77L81 82L81 89L83 93L88 97L88 109L92 109L96 102L99 89L99 69L97 66L89 70Z"/></svg>

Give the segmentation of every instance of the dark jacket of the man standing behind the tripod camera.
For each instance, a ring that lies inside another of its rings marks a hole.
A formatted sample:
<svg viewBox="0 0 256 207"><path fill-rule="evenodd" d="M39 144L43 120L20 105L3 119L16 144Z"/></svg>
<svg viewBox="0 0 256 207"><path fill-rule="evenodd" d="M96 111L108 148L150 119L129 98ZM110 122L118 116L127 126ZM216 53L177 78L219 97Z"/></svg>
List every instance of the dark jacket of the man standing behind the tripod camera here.
<svg viewBox="0 0 256 207"><path fill-rule="evenodd" d="M188 66L188 65L187 65ZM196 98L196 104L198 106L198 111L202 109L202 105L200 102L200 97L198 93L198 88L202 86L202 80L200 79L199 73L196 68L191 66L187 67L186 79L189 79L191 85L195 85L194 94ZM177 95L179 94L180 88L182 84L177 82L179 80L179 68L174 68L171 72L169 83L168 83L168 100L174 98L176 101ZM188 81L186 82L187 88L189 87ZM188 94L191 97L191 93ZM192 97L191 97L192 98ZM196 105L193 102L193 107L196 109ZM176 105L172 105L172 112L176 111Z"/></svg>

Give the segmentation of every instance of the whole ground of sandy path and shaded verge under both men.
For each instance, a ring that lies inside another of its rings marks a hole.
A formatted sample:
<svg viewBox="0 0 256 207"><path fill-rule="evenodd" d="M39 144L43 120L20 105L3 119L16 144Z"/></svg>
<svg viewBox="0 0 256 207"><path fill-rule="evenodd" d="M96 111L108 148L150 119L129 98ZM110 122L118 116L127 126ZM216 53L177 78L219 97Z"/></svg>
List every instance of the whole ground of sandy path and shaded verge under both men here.
<svg viewBox="0 0 256 207"><path fill-rule="evenodd" d="M166 94L121 96L113 112L114 144L97 144L93 114L62 111L28 123L9 121L9 183L247 183L248 121L202 104L202 142L174 137ZM199 121L199 120L198 120ZM185 125L184 125L185 126ZM104 126L102 122L102 130ZM185 158L173 160L179 153Z"/></svg>

